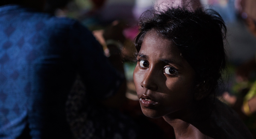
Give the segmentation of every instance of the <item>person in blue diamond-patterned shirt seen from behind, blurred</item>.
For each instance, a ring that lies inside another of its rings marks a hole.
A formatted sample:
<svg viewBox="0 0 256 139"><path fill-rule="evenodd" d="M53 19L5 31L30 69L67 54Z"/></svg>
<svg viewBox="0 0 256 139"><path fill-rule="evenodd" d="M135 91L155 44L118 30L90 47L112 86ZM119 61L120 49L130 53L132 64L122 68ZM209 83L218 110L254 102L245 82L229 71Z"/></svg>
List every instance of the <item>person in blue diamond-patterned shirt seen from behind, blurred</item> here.
<svg viewBox="0 0 256 139"><path fill-rule="evenodd" d="M97 106L124 79L87 28L43 13L45 3L0 2L0 138L73 138L65 103L76 75Z"/></svg>

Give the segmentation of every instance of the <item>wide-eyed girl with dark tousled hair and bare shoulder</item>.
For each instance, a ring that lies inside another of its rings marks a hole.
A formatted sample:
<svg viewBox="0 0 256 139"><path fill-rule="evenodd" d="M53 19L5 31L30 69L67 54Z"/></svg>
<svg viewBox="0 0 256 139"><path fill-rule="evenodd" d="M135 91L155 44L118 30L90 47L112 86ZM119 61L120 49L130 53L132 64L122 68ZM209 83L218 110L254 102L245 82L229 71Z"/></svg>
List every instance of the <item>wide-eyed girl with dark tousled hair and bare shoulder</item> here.
<svg viewBox="0 0 256 139"><path fill-rule="evenodd" d="M218 13L147 11L139 27L133 78L144 115L163 117L177 139L252 138L237 114L216 99L226 66L226 26Z"/></svg>

